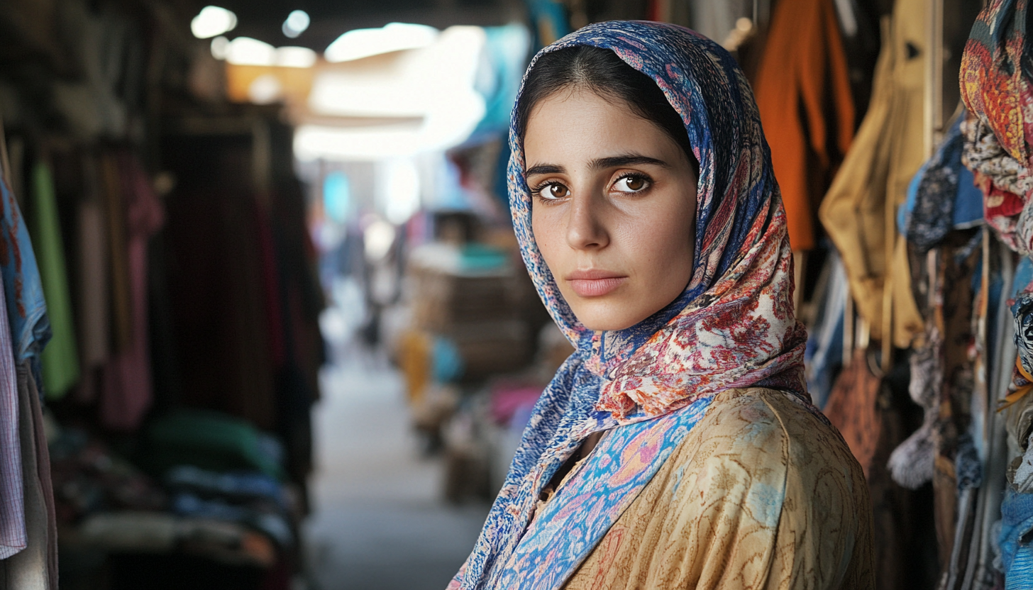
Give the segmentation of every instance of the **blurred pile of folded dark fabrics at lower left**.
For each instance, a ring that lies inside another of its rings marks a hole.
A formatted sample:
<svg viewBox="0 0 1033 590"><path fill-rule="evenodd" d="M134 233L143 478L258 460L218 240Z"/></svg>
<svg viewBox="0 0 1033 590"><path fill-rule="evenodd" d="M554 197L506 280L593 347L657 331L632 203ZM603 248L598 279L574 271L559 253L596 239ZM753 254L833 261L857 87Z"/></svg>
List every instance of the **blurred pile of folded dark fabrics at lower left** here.
<svg viewBox="0 0 1033 590"><path fill-rule="evenodd" d="M153 477L80 430L60 429L51 446L62 551L72 562L189 556L273 576L298 558L303 510L281 480L282 445L246 423L210 411L156 421L136 461Z"/></svg>

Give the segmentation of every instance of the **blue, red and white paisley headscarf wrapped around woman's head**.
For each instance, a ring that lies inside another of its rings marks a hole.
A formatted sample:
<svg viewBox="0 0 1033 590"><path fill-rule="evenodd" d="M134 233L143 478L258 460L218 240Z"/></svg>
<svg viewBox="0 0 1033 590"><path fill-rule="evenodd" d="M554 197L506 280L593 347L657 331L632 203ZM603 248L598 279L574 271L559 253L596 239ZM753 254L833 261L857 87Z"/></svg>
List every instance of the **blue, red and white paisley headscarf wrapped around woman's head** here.
<svg viewBox="0 0 1033 590"><path fill-rule="evenodd" d="M543 49L528 71L541 55L575 45L614 51L652 77L685 122L699 162L694 270L676 301L632 328L593 332L577 321L532 234L514 106L513 225L538 293L576 351L535 405L481 536L449 588L491 587L493 568L512 555L539 492L593 432L669 415L733 387L769 386L809 399L807 333L792 309L785 212L757 107L735 61L683 27L608 22Z"/></svg>

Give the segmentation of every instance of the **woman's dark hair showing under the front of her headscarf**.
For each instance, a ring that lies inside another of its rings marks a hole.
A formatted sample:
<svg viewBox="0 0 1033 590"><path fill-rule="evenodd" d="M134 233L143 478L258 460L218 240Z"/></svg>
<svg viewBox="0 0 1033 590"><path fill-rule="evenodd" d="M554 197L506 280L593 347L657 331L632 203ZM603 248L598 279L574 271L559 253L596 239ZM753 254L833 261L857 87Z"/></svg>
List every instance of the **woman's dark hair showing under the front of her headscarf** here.
<svg viewBox="0 0 1033 590"><path fill-rule="evenodd" d="M576 45L550 52L538 58L524 83L516 123L520 136L538 101L565 88L587 88L604 98L623 100L643 119L659 127L678 144L697 176L699 163L692 153L685 123L652 77L624 63L611 50Z"/></svg>

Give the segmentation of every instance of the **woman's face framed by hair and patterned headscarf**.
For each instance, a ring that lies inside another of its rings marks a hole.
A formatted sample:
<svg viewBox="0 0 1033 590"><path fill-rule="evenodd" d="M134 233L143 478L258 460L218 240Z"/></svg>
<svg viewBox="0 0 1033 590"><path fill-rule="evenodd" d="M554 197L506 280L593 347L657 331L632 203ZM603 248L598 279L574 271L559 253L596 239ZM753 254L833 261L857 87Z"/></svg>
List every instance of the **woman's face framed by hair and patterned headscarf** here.
<svg viewBox="0 0 1033 590"><path fill-rule="evenodd" d="M524 158L535 242L586 328L630 328L682 293L696 175L669 135L620 100L562 90L531 111Z"/></svg>

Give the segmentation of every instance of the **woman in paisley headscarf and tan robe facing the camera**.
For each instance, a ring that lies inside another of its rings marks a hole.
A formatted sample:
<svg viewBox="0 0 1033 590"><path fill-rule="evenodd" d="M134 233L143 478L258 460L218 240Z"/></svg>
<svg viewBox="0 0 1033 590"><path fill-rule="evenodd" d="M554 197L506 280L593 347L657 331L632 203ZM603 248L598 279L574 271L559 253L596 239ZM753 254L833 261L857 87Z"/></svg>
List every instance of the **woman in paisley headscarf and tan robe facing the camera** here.
<svg viewBox="0 0 1033 590"><path fill-rule="evenodd" d="M687 29L542 50L510 132L524 260L577 347L450 588L872 588L859 466L811 404L749 87Z"/></svg>

